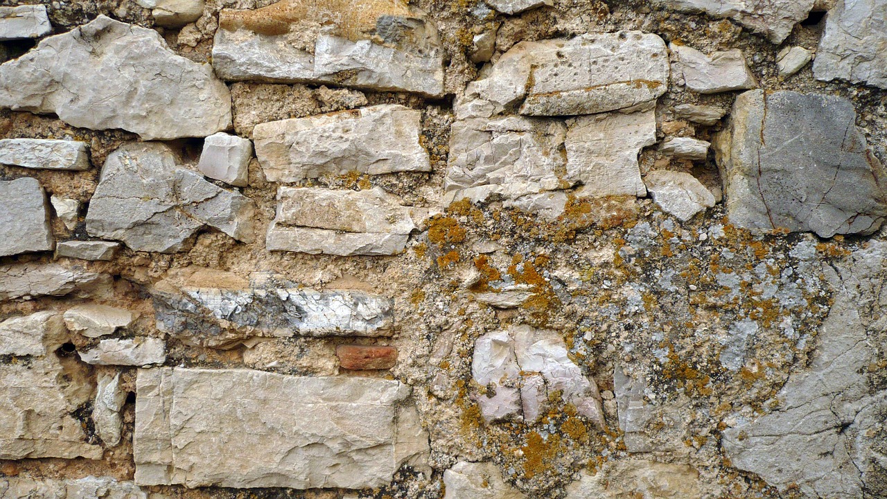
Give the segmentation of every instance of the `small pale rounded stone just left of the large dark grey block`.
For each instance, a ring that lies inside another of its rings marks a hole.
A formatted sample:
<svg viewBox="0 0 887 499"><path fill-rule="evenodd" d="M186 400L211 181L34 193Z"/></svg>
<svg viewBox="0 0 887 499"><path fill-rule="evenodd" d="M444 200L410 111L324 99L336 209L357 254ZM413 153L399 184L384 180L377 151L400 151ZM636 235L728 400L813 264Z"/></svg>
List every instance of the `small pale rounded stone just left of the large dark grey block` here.
<svg viewBox="0 0 887 499"><path fill-rule="evenodd" d="M655 170L644 177L653 201L666 213L689 220L715 205L715 196L693 175L682 171Z"/></svg>

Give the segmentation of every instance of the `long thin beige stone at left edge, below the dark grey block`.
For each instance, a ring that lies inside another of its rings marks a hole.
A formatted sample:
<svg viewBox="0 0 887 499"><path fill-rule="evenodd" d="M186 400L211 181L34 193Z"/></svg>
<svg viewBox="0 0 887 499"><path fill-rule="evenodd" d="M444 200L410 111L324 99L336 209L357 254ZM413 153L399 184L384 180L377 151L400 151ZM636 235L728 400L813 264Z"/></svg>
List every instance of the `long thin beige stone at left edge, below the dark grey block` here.
<svg viewBox="0 0 887 499"><path fill-rule="evenodd" d="M75 291L78 296L100 295L110 289L112 281L106 273L86 272L77 266L0 265L0 300L43 295L61 297Z"/></svg>

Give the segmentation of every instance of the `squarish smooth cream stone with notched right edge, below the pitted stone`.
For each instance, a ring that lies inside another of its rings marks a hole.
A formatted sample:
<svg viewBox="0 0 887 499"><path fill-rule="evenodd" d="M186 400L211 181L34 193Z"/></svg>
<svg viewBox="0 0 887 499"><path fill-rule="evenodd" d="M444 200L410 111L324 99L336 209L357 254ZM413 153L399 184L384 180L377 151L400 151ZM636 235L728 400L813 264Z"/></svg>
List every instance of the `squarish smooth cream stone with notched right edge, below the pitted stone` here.
<svg viewBox="0 0 887 499"><path fill-rule="evenodd" d="M655 110L582 116L567 123L566 178L585 197L645 196L638 154L656 141Z"/></svg>

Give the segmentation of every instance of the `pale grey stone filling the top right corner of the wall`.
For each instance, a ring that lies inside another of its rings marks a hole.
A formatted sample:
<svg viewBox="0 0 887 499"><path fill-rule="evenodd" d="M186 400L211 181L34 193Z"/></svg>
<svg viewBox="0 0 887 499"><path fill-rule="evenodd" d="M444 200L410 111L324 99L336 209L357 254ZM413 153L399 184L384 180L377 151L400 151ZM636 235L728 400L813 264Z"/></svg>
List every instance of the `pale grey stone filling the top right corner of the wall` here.
<svg viewBox="0 0 887 499"><path fill-rule="evenodd" d="M817 80L836 78L887 89L887 4L837 0L813 61Z"/></svg>

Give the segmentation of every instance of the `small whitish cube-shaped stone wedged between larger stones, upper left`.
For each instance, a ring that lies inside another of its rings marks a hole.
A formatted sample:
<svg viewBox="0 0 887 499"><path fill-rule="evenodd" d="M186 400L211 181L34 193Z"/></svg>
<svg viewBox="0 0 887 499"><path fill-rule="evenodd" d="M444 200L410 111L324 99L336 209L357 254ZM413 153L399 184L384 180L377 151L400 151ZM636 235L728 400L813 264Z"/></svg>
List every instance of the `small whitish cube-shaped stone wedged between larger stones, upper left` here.
<svg viewBox="0 0 887 499"><path fill-rule="evenodd" d="M209 178L242 187L247 185L249 160L252 157L253 143L249 139L220 131L203 141L197 169Z"/></svg>

